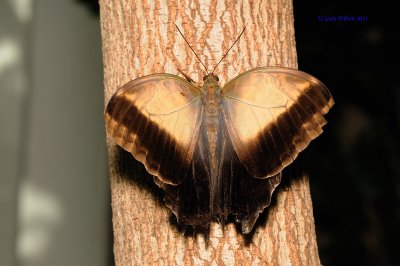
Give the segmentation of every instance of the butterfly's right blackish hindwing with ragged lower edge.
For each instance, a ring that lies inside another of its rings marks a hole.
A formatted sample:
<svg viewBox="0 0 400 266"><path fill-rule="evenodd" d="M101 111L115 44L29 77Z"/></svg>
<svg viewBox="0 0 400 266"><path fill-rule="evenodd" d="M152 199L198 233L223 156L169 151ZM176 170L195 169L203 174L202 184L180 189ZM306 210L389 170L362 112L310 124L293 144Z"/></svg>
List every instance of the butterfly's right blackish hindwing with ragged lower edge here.
<svg viewBox="0 0 400 266"><path fill-rule="evenodd" d="M218 197L214 197L211 204L218 210L218 217L226 219L229 214L232 215L240 223L242 233L248 234L259 214L270 205L272 194L280 184L281 173L265 179L254 178L246 165L241 163L223 117L221 114L218 130Z"/></svg>

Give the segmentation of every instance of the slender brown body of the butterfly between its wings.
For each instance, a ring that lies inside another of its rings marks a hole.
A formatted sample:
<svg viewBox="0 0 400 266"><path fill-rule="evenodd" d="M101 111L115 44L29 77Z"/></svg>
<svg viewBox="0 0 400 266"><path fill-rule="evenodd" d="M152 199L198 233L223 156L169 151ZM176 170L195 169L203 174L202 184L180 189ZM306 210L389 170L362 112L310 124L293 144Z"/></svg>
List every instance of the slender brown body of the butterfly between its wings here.
<svg viewBox="0 0 400 266"><path fill-rule="evenodd" d="M202 101L204 105L203 125L207 135L207 143L209 150L209 161L211 170L210 180L210 203L216 203L214 199L219 198L219 173L218 160L216 156L218 128L221 113L221 87L218 84L218 77L214 75L206 76L202 87ZM217 204L218 205L218 204ZM210 211L212 215L215 213L216 206L211 204Z"/></svg>

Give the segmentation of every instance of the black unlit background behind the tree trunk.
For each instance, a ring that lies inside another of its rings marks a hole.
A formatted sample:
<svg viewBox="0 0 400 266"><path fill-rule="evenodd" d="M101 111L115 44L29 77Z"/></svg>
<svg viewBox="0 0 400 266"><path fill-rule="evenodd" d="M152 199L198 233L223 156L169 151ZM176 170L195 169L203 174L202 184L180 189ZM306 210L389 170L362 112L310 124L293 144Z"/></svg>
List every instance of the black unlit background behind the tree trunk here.
<svg viewBox="0 0 400 266"><path fill-rule="evenodd" d="M98 15L97 1L79 2ZM303 155L324 265L400 265L399 32L390 9L294 1L299 69L323 81L336 102Z"/></svg>

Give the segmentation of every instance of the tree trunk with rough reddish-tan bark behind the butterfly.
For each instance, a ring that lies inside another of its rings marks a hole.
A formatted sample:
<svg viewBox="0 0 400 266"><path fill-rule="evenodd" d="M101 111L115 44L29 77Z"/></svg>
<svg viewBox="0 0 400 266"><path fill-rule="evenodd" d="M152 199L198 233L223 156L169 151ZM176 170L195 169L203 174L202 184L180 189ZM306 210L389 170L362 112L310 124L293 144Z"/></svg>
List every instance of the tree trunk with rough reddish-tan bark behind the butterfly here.
<svg viewBox="0 0 400 266"><path fill-rule="evenodd" d="M150 3L151 2L151 3ZM215 74L223 85L259 66L297 67L293 5L286 0L101 0L105 102L115 90L152 73L211 70L247 27ZM233 224L210 235L183 236L143 167L108 139L116 265L319 265L308 178L277 191L250 236Z"/></svg>

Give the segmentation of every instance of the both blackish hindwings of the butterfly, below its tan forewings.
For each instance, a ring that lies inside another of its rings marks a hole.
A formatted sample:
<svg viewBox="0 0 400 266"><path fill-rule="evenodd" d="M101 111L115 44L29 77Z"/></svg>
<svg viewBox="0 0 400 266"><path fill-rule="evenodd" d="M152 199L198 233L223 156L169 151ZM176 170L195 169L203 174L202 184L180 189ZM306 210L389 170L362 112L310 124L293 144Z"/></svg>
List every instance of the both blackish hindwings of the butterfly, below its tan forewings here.
<svg viewBox="0 0 400 266"><path fill-rule="evenodd" d="M269 206L281 173L267 179L253 178L234 150L222 114L219 120L217 176L212 175L206 125L202 123L186 178L178 186L158 185L180 223L207 229L212 221L224 224L231 215L241 224L242 233L248 234L259 214Z"/></svg>

